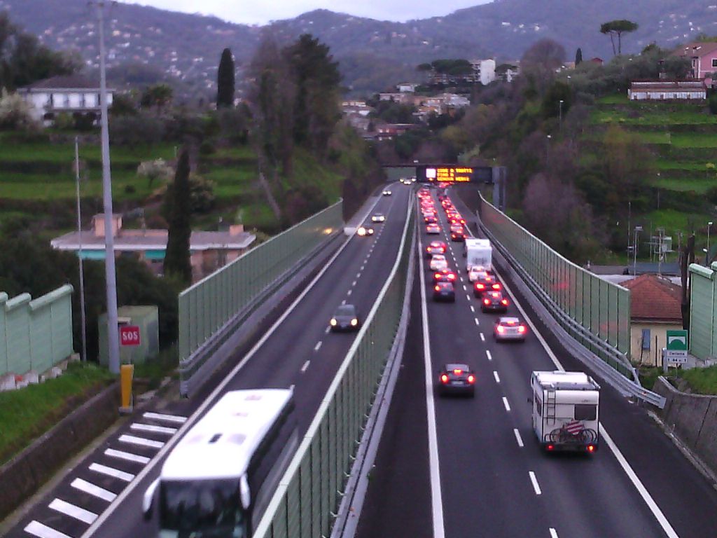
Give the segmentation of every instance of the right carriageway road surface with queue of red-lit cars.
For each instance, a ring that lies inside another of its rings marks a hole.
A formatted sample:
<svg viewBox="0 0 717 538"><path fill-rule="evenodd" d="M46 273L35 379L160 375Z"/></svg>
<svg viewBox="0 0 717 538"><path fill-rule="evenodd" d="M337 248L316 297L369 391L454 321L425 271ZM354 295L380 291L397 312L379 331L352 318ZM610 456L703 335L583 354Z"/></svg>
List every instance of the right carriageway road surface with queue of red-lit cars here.
<svg viewBox="0 0 717 538"><path fill-rule="evenodd" d="M470 216L455 195L452 200ZM445 214L438 213L445 232ZM421 237L425 245L436 236ZM404 356L397 409L389 413L358 536L717 536L711 484L645 410L607 384L602 383L604 429L597 453L541 452L528 402L531 371L585 367L555 342L550 351L534 329L525 344L493 341L498 315L480 313L460 265L462 243L447 236L445 241L450 265L463 280L455 304L434 303L422 256L423 293L414 294L412 304L414 340ZM510 295L509 315L525 318ZM437 370L450 361L475 369L474 399L434 397Z"/></svg>

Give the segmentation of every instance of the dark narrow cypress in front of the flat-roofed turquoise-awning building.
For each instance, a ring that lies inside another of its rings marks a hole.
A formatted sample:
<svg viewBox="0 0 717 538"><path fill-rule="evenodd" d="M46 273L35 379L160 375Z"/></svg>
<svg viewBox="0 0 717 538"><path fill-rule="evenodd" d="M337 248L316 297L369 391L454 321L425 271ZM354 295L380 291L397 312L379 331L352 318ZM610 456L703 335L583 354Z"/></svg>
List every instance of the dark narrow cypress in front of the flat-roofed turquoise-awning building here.
<svg viewBox="0 0 717 538"><path fill-rule="evenodd" d="M174 184L167 189L171 197L169 236L164 256L164 274L174 275L183 283L191 283L189 238L191 236L191 203L189 200L189 151L179 154Z"/></svg>

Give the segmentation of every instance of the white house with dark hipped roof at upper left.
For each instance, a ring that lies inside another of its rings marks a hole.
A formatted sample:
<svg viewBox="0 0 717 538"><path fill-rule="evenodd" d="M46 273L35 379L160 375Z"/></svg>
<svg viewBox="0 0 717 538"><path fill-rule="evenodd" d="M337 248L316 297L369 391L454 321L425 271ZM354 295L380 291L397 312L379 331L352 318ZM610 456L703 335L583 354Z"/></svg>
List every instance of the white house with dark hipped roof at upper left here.
<svg viewBox="0 0 717 538"><path fill-rule="evenodd" d="M115 90L107 90L107 104L112 105ZM32 105L33 117L45 126L52 125L58 113L100 115L100 84L77 75L38 80L17 93Z"/></svg>

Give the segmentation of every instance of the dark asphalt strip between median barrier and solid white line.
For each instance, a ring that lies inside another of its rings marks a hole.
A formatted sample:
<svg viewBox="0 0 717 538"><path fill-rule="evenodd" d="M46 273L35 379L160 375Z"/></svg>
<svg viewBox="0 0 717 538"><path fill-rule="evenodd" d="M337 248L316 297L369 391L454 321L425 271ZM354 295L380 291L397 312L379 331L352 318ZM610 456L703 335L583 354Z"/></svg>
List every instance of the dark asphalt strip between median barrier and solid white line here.
<svg viewBox="0 0 717 538"><path fill-rule="evenodd" d="M371 470L357 538L433 537L420 318L420 290L414 285L412 323Z"/></svg>

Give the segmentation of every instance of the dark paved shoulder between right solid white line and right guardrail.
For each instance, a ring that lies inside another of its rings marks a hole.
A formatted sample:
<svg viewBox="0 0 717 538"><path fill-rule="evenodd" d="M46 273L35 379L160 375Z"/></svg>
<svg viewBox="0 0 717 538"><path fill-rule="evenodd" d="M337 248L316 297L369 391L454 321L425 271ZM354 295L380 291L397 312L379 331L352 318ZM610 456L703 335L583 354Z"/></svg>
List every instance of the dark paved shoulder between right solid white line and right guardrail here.
<svg viewBox="0 0 717 538"><path fill-rule="evenodd" d="M460 199L455 203L465 207ZM471 214L468 209L464 213ZM649 406L632 404L612 390L596 372L565 351L539 318L533 316L532 321L559 354L565 369L588 372L601 382L601 423L675 532L680 537L717 536L717 519L713 517L717 491L655 424L648 415Z"/></svg>

